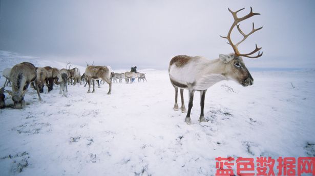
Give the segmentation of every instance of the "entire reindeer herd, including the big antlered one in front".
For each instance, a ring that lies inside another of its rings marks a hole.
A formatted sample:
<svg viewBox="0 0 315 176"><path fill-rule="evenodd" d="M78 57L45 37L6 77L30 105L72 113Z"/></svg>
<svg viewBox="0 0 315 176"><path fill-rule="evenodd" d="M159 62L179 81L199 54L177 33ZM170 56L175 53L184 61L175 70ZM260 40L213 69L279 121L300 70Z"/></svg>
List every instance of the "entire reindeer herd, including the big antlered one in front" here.
<svg viewBox="0 0 315 176"><path fill-rule="evenodd" d="M244 9L244 8L243 8ZM199 121L206 121L203 114L204 109L204 99L205 93L207 89L219 81L222 80L234 80L241 84L242 86L250 86L253 85L254 79L251 77L249 71L247 70L242 57L247 58L259 58L262 56L260 53L261 47L256 47L254 51L241 54L238 49L238 45L241 44L247 37L254 32L262 29L254 27L251 31L245 34L240 29L239 22L253 17L255 15L260 15L259 13L253 13L253 9L250 7L250 12L243 16L238 17L237 13L241 10L232 11L228 9L234 18L234 22L230 27L227 36L222 37L228 40L227 44L232 46L234 53L231 54L220 54L218 59L208 60L203 57L192 57L186 55L175 56L169 65L169 77L171 84L175 88L175 104L174 110L178 110L177 104L177 96L178 96L178 89L180 89L180 96L181 96L181 111L186 112L185 105L184 105L184 97L183 97L183 90L188 89L188 111L186 114L185 122L191 123L191 109L193 107L193 99L194 99L194 92L200 92L200 117ZM237 28L239 33L243 36L243 39L236 44L231 39L231 33L234 28ZM253 54L257 53L256 56ZM146 81L144 73L135 73L135 72L124 72L124 73L115 73L111 71L111 67L109 66L87 66L85 73L82 77L80 77L80 72L77 68L73 69L61 69L58 70L57 68L51 67L44 67L44 68L36 68L33 64L28 62L23 62L20 64L15 65L11 70L5 69L3 71L3 76L7 78L5 82L6 84L12 84L12 91L5 90L4 87L0 89L0 106L4 107L4 92L8 92L13 99L15 108L22 108L24 102L24 95L29 84L33 84L34 88L37 90L38 99L40 100L40 92L43 92L43 87L45 84L47 85L48 90L51 91L53 89L53 84L60 84L60 92L68 91L67 84L69 84L69 80L71 84L80 83L81 80L85 80L89 84L88 93L90 93L90 87L93 83L93 90L95 91L95 80L102 80L109 84L109 91L108 94L111 94L112 90L112 82L116 82L117 80L119 83L122 82L124 79L126 83L132 83L133 79L138 78L138 82L141 80ZM99 81L98 81L99 86Z"/></svg>

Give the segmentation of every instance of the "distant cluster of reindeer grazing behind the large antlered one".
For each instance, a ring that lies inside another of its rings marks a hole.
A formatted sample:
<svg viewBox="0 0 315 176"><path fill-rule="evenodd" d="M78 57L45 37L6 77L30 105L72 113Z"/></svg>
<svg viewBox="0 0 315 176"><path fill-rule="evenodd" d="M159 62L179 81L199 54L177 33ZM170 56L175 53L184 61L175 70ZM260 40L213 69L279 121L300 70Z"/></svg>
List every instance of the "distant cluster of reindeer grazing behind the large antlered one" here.
<svg viewBox="0 0 315 176"><path fill-rule="evenodd" d="M95 92L95 82L101 81L109 84L109 91L107 94L111 94L112 80L117 83L121 83L122 79L125 79L126 83L132 83L132 78L138 78L146 81L144 73L115 73L112 72L110 66L94 66L87 65L85 72L80 74L78 68L66 68L58 69L55 67L35 67L32 63L23 62L14 65L12 68L6 68L3 70L3 77L6 79L3 88L0 89L0 108L5 108L5 94L8 93L12 96L14 108L22 109L25 105L24 96L27 92L29 85L33 87L38 95L38 100L41 101L40 93L44 93L44 87L47 86L48 92L53 90L54 85L59 85L59 94L66 96L68 92L68 85L76 85L86 83L89 85L88 93L91 93L91 84L93 85L92 93ZM85 85L85 86L86 86ZM6 90L6 86L11 86L12 90Z"/></svg>

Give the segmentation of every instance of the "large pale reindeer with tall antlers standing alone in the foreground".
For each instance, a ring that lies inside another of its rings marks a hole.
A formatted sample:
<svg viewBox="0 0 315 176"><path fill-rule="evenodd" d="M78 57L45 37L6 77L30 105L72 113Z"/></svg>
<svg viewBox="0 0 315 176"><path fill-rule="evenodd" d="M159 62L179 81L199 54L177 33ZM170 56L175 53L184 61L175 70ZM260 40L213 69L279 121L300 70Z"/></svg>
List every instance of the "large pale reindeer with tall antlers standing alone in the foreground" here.
<svg viewBox="0 0 315 176"><path fill-rule="evenodd" d="M258 58L262 56L260 54L260 48L257 47L254 49L253 52L248 54L240 54L238 51L238 45L242 43L250 34L262 29L254 28L248 34L244 34L240 27L239 22L254 16L260 15L259 13L253 13L253 10L250 7L250 13L245 15L244 17L238 18L237 12L241 11L240 9L236 12L231 11L228 9L230 13L232 13L234 18L234 23L230 27L226 38L228 40L228 44L232 46L234 53L228 55L219 55L219 59L215 60L207 60L203 57L191 57L191 56L175 56L171 62L169 67L169 76L172 85L175 88L175 105L174 110L178 110L177 105L177 92L178 88L180 89L181 95L181 110L185 112L185 105L183 100L183 89L188 89L189 94L189 104L188 104L188 111L185 118L185 122L190 124L191 123L191 110L193 107L193 99L194 99L194 92L200 91L200 106L201 106L201 113L199 117L199 121L206 121L203 115L203 108L204 108L204 98L206 90L222 80L235 80L242 86L250 86L254 83L254 79L251 77L249 71L247 70L242 56L247 58ZM234 27L237 27L238 31L242 34L243 39L238 43L234 44L230 39L230 34ZM221 36L222 37L222 36ZM258 52L257 56L250 56Z"/></svg>

